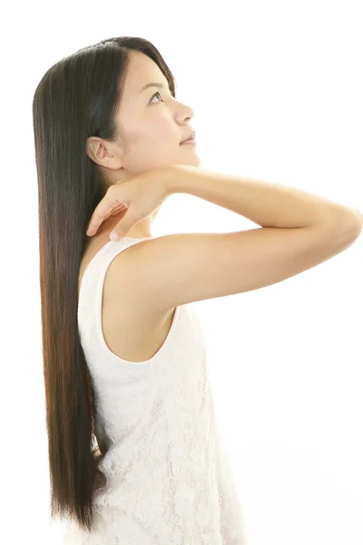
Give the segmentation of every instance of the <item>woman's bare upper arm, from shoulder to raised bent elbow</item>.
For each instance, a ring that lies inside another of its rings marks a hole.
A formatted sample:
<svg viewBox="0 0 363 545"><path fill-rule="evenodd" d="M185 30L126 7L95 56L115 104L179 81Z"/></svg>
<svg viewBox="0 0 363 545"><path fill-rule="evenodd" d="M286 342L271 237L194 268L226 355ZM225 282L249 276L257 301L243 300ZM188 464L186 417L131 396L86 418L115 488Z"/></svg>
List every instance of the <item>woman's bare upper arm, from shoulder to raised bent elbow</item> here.
<svg viewBox="0 0 363 545"><path fill-rule="evenodd" d="M114 261L119 258L123 297L164 312L281 282L342 252L354 240L350 231L322 226L167 234L132 245Z"/></svg>

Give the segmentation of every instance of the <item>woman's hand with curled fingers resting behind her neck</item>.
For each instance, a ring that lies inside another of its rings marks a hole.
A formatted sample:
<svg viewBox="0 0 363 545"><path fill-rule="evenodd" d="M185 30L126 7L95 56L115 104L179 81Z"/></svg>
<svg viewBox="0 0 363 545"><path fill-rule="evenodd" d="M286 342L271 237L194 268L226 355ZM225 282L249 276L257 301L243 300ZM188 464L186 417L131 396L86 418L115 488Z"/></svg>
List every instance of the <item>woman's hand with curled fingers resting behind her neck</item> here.
<svg viewBox="0 0 363 545"><path fill-rule="evenodd" d="M114 183L94 209L86 234L93 236L104 220L124 211L122 220L113 229L122 238L172 193L171 180L172 166Z"/></svg>

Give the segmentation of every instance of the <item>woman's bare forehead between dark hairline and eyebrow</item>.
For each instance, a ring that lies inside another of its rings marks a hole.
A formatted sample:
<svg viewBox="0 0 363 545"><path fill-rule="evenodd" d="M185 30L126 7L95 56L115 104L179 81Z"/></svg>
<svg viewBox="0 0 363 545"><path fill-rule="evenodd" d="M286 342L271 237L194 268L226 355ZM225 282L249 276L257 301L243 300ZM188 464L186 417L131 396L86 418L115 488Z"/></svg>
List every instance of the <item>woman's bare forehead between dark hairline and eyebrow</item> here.
<svg viewBox="0 0 363 545"><path fill-rule="evenodd" d="M162 74L158 64L147 54L134 50L131 50L129 54L130 62L124 81L124 94L141 96L142 87L151 82L164 84L166 88L168 87L168 80ZM146 94L147 91L142 92L142 94L144 93Z"/></svg>

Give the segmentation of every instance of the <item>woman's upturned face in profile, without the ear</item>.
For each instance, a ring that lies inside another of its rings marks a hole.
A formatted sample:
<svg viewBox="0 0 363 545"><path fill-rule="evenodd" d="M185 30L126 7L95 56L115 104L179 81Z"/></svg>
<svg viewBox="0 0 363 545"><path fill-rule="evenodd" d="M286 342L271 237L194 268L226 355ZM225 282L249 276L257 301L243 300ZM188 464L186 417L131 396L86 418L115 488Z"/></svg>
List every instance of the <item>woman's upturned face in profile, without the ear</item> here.
<svg viewBox="0 0 363 545"><path fill-rule="evenodd" d="M162 88L144 88L152 83ZM199 166L196 146L180 144L191 133L192 116L191 107L170 93L159 66L132 50L116 114L117 153L124 172L132 175L175 163Z"/></svg>

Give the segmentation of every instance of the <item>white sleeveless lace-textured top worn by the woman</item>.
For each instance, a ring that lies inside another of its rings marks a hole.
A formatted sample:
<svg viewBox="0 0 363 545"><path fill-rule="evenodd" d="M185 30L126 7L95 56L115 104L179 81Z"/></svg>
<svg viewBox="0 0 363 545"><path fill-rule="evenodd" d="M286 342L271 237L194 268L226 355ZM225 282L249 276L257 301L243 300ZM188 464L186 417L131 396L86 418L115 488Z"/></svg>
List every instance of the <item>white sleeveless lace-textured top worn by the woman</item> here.
<svg viewBox="0 0 363 545"><path fill-rule="evenodd" d="M150 360L123 360L104 340L106 271L143 240L104 244L83 274L78 329L97 402L95 435L107 449L99 462L106 482L95 491L95 533L68 523L64 545L246 545L191 305L176 307Z"/></svg>

